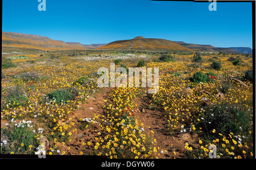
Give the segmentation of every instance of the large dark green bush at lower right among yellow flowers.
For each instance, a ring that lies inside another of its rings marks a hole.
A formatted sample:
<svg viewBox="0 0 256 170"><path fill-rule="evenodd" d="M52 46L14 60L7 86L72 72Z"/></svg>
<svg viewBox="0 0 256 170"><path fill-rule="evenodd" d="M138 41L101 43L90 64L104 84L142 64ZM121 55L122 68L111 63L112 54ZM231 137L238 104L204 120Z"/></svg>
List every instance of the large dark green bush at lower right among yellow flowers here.
<svg viewBox="0 0 256 170"><path fill-rule="evenodd" d="M245 131L252 130L250 112L236 105L230 106L225 102L210 104L204 107L199 114L200 121L196 121L195 126L201 128L205 136L212 134L213 129L216 130L215 134L223 135L228 135L230 132L245 135Z"/></svg>

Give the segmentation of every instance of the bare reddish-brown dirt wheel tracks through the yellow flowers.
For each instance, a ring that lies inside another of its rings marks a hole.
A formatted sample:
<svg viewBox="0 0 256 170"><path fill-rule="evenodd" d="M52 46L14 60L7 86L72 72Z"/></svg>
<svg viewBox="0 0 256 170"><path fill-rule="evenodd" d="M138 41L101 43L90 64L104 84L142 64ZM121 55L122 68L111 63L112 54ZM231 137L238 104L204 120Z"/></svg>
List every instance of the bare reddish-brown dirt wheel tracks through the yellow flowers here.
<svg viewBox="0 0 256 170"><path fill-rule="evenodd" d="M89 97L88 100L81 105L79 109L72 112L72 121L75 122L77 130L72 135L72 146L67 150L68 154L77 155L80 151L86 150L86 146L83 143L94 143L94 138L100 137L98 132L100 127L93 124L90 128L81 127L81 119L94 118L94 116L102 116L104 114L104 100L109 99L109 93L112 88L102 88L101 91L96 92ZM156 155L158 158L184 158L184 146L185 143L193 145L193 140L195 136L191 136L189 133L182 133L179 135L170 134L167 126L167 116L163 109L150 107L150 97L147 94L138 96L134 103L137 104L135 109L139 112L136 114L136 118L139 124L143 123L144 131L148 134L152 134L154 131L153 139L156 139L156 147L160 148L162 153ZM64 149L64 148L63 148ZM88 147L88 152L92 152L91 148ZM86 153L83 153L86 154Z"/></svg>

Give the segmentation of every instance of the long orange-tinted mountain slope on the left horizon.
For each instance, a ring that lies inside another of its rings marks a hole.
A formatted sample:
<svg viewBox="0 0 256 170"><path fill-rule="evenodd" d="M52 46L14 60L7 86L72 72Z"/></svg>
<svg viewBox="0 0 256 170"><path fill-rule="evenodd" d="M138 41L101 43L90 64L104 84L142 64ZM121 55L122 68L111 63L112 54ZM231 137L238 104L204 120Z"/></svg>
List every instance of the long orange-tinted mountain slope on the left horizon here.
<svg viewBox="0 0 256 170"><path fill-rule="evenodd" d="M29 48L40 50L95 49L106 44L82 45L80 42L52 40L46 36L26 33L2 32L2 47Z"/></svg>

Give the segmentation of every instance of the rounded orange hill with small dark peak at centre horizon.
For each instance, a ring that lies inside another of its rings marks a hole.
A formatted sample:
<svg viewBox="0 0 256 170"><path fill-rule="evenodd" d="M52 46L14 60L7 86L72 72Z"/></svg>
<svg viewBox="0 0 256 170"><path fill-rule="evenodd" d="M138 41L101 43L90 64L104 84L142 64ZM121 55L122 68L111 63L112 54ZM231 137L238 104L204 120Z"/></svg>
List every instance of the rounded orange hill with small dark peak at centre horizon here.
<svg viewBox="0 0 256 170"><path fill-rule="evenodd" d="M142 36L130 40L118 40L97 49L112 50L174 50L180 52L194 52L174 41L164 39L146 39Z"/></svg>

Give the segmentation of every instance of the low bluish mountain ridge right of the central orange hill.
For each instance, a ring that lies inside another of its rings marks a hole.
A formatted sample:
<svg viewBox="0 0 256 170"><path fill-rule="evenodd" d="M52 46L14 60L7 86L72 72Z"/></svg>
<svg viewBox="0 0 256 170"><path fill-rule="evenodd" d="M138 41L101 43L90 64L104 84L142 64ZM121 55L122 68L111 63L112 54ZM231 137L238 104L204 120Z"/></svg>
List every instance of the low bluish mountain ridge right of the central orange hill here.
<svg viewBox="0 0 256 170"><path fill-rule="evenodd" d="M247 48L243 48L243 47L230 47L230 48L222 48L222 47L215 47L212 45L201 45L201 44L187 44L184 41L174 41L177 44L183 45L189 49L195 50L195 51L199 51L199 52L224 52L224 53L234 53L234 54L238 54L238 53L245 53L247 52Z"/></svg>

